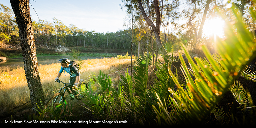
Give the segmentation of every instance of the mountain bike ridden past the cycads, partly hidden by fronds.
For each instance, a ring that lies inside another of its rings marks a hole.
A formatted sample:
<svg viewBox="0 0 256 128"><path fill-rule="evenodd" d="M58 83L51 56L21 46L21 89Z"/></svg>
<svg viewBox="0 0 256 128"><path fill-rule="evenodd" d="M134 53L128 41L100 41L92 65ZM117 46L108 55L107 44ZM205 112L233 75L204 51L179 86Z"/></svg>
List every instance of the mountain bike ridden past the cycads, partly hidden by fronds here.
<svg viewBox="0 0 256 128"><path fill-rule="evenodd" d="M74 100L74 99L81 100L82 98L84 98L84 96L80 93L80 91L86 89L88 86L86 83L81 83L81 84L78 84L76 88L74 87L74 84L64 83L59 79L56 80L55 82L59 82L59 83L61 82L62 84L64 84L64 86L60 88L60 91L58 93L55 93L49 100L46 101L45 103L46 106L48 105L48 103L52 102L53 99L54 99L53 104L56 104L56 103L61 104L61 102L66 103L66 97L65 97L66 92L68 92L68 95L70 96L71 100Z"/></svg>

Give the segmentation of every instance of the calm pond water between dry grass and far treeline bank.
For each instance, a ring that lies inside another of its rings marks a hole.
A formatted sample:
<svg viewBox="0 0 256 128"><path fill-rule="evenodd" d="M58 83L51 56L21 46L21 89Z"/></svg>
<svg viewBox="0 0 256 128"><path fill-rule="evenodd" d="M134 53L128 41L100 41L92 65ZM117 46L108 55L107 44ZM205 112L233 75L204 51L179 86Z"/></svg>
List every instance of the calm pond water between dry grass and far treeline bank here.
<svg viewBox="0 0 256 128"><path fill-rule="evenodd" d="M52 63L59 63L60 59L62 58L69 58L71 59L71 56L40 56L37 57L37 62L38 65L47 65L47 64L52 64ZM87 59L102 59L104 57L79 57L81 60L87 60ZM110 57L105 57L105 58L110 58ZM5 63L0 64L0 69L3 67L9 67L9 68L17 68L17 67L24 67L23 66L23 58L12 58L6 60Z"/></svg>

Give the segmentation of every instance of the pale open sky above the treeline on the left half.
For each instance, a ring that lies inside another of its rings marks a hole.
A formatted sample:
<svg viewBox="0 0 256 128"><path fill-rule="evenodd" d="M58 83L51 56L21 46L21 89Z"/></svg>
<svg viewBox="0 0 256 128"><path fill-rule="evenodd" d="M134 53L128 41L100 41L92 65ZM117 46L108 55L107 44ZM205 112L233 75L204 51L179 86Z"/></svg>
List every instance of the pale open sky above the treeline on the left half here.
<svg viewBox="0 0 256 128"><path fill-rule="evenodd" d="M0 3L12 9L9 0ZM30 15L35 21L39 17L52 22L55 17L66 26L74 24L99 33L116 32L124 30L126 12L120 9L120 4L123 5L121 0L30 0Z"/></svg>

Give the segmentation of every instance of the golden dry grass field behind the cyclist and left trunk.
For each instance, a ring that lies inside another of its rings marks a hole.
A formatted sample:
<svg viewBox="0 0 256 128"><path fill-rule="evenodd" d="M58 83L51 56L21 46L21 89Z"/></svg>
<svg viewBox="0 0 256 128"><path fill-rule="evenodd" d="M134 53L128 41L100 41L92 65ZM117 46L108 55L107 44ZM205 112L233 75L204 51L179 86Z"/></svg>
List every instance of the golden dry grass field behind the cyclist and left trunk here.
<svg viewBox="0 0 256 128"><path fill-rule="evenodd" d="M106 74L114 73L127 65L130 65L130 59L90 59L77 61L80 64L81 79L89 80L92 75L98 75L100 70ZM60 85L54 82L54 78L60 70L60 63L52 63L49 65L39 65L38 71L41 83L44 89L44 94L47 97L55 92L58 92ZM4 72L3 72L4 71ZM24 68L15 68L12 70L3 70L0 72L0 108L2 111L10 110L30 100L29 89L25 77ZM63 82L69 82L69 74L64 73L60 76Z"/></svg>

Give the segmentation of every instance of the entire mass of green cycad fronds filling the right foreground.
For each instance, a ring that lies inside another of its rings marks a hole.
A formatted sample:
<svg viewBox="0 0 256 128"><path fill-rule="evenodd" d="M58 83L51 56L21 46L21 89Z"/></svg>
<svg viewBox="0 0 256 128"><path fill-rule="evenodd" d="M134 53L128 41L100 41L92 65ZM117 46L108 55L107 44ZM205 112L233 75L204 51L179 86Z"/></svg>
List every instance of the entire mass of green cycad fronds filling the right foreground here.
<svg viewBox="0 0 256 128"><path fill-rule="evenodd" d="M185 82L180 81L178 73L172 72L171 65L175 61L172 54L172 56L163 56L164 63L156 64L157 79L152 86L148 86L151 58L142 55L136 59L135 73L132 76L129 71L125 76L120 74L117 89L112 86L111 78L106 74L93 76L91 83L99 84L100 93L93 93L90 87L83 92L86 108L91 110L96 118L108 121L126 120L129 124L204 124L210 113L220 124L227 124L225 123L228 122L227 117L218 101L226 92L231 91L241 109L248 107L251 102L250 95L237 78L240 76L248 80L255 78L255 72L250 72L246 67L255 57L255 39L244 28L236 10L233 11L236 22L231 26L226 21L227 39L224 41L217 39L218 54L212 55L203 45L205 58L195 57L194 62L182 45L188 59L186 63L182 54L179 54L181 74ZM253 11L252 16L255 16ZM233 31L233 27L237 34ZM252 104L249 107L252 107Z"/></svg>

